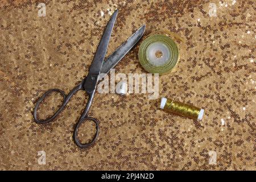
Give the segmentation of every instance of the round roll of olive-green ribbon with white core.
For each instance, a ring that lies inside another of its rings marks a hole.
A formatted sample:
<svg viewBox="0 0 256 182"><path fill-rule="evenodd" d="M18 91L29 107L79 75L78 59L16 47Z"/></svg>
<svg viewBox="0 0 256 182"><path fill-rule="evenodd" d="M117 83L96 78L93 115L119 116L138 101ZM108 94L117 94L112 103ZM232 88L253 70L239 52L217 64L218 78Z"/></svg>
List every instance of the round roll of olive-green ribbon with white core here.
<svg viewBox="0 0 256 182"><path fill-rule="evenodd" d="M154 35L149 35L141 43L139 63L147 72L164 75L171 72L176 66L179 60L179 49L174 40L167 35L170 34L156 32ZM176 34L171 33L171 35L183 42L183 39Z"/></svg>

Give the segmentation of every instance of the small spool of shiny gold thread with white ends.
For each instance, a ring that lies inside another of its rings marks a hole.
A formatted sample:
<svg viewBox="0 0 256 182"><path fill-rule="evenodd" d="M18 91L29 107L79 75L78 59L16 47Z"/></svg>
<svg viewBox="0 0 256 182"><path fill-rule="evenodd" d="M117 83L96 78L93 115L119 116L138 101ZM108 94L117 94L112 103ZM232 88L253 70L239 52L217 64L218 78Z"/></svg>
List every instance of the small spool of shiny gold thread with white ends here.
<svg viewBox="0 0 256 182"><path fill-rule="evenodd" d="M197 119L201 121L204 115L204 109L199 107L184 104L179 101L171 100L170 98L162 97L160 108L172 114L180 115L183 117Z"/></svg>

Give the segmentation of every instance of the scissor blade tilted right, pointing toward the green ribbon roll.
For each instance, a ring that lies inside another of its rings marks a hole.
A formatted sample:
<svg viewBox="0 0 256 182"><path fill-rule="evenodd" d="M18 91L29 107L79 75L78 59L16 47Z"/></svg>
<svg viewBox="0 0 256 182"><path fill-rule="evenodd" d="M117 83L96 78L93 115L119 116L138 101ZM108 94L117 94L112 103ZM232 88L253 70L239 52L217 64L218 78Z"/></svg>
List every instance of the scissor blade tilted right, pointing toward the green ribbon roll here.
<svg viewBox="0 0 256 182"><path fill-rule="evenodd" d="M101 73L107 74L110 69L114 66L130 51L131 48L142 38L146 25L143 24L129 39L126 40L121 46L119 46L115 51L104 61L101 69Z"/></svg>

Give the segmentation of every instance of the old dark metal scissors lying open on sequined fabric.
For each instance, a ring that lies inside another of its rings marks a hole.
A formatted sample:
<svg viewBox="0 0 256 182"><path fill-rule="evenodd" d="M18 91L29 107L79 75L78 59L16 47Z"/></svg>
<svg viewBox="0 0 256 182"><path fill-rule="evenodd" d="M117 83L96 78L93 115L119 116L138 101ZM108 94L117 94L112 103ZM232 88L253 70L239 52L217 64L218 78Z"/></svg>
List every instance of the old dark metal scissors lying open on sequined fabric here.
<svg viewBox="0 0 256 182"><path fill-rule="evenodd" d="M98 136L98 121L95 118L88 117L88 111L90 109L90 106L93 102L93 97L96 92L96 86L99 81L100 73L107 74L110 69L112 69L121 59L123 56L126 55L127 52L130 51L130 49L138 42L139 39L142 38L142 35L144 34L145 25L141 26L136 32L134 32L133 35L130 36L129 39L126 40L121 46L119 46L115 51L110 55L105 61L105 55L106 51L109 45L109 39L112 34L112 30L114 27L115 19L117 18L118 10L115 10L112 17L110 18L104 34L102 35L102 38L100 40L100 43L98 44L97 51L94 55L94 59L92 61L92 64L90 65L90 69L88 72L88 75L80 82L79 85L77 85L75 88L71 90L71 92L68 93L66 96L65 93L60 89L50 89L47 92L41 96L38 101L36 102L35 109L34 109L34 119L36 123L47 123L52 121L57 117L57 115L60 114L60 112L64 109L65 105L69 102L73 94L75 94L79 90L85 90L85 92L88 94L89 98L87 101L87 104L85 106L84 111L81 114L81 117L79 121L75 125L75 130L73 132L73 138L75 140L75 143L80 148L87 148L94 144L96 142L97 136ZM37 110L40 105L40 103L48 96L49 93L52 92L59 92L63 96L63 104L60 106L60 108L56 111L55 114L53 114L51 117L40 120L37 117ZM96 124L96 134L94 135L93 139L90 140L89 143L81 143L78 138L78 130L81 124L85 121L93 121Z"/></svg>

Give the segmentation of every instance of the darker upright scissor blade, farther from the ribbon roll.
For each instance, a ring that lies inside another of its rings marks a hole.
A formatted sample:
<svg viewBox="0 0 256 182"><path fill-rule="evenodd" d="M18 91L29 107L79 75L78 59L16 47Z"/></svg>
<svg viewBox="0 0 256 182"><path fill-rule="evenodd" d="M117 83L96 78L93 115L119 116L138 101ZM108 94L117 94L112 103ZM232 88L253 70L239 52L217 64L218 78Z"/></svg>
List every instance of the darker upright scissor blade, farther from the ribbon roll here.
<svg viewBox="0 0 256 182"><path fill-rule="evenodd" d="M117 19L117 14L118 14L118 10L115 10L105 28L105 31L101 37L100 43L98 44L97 51L94 55L92 65L90 66L88 75L100 74L102 64L106 56L106 51L108 49L109 39L115 24L115 19Z"/></svg>

